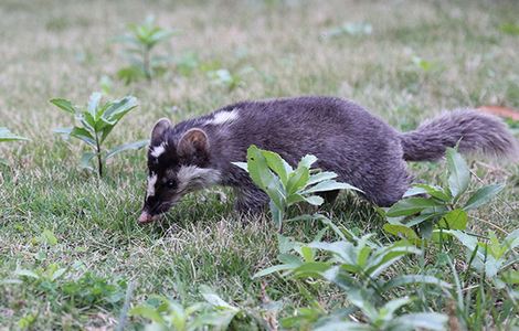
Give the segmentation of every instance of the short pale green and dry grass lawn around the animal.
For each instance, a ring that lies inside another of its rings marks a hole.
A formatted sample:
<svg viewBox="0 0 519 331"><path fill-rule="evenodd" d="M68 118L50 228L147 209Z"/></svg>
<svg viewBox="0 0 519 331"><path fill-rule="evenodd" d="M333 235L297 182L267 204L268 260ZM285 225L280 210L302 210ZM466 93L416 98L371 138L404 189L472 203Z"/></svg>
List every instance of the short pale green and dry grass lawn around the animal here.
<svg viewBox="0 0 519 331"><path fill-rule="evenodd" d="M131 305L151 293L199 300L198 287L212 286L231 302L283 299L283 314L305 303L290 280L251 276L274 263L275 227L268 216L240 218L218 191L187 196L163 222L136 223L145 194L146 152L113 160L106 178L78 169L82 147L62 141L52 129L70 119L49 99L86 100L104 75L125 65L113 43L126 25L151 13L158 23L182 33L159 53L193 52L200 66L189 75L173 68L151 83L125 86L114 78L113 97L134 94L139 108L115 128L109 143L146 139L160 117L173 121L206 114L241 99L326 94L354 99L399 129L414 128L442 109L505 105L519 107L519 36L500 29L517 22L515 1L18 1L0 3L0 127L31 139L2 143L10 168L0 171L0 282L17 266L34 269L54 263L81 268L109 281L134 284ZM369 22L370 35L322 39L345 22ZM431 70L413 56L432 63ZM215 85L204 67L240 74L229 90ZM252 70L244 71L246 67ZM484 183L507 188L470 221L474 232L501 234L519 226L519 168L473 160ZM1 167L1 166L0 166ZM420 181L436 182L441 163L412 164ZM231 193L224 191L229 197ZM384 221L368 203L341 196L328 210L337 223L384 239ZM57 244L36 238L50 229ZM316 226L294 224L287 233L310 239ZM462 255L463 250L455 252ZM401 264L402 273L416 261ZM65 281L60 280L60 281ZM125 289L120 289L125 291ZM322 305L337 305L333 288L320 292ZM62 297L60 297L62 296ZM61 300L61 301L60 301ZM56 303L57 302L57 303ZM119 302L121 303L121 302ZM59 293L55 302L35 285L0 285L0 329L18 328L35 316L34 329L115 328L120 305L73 305Z"/></svg>

